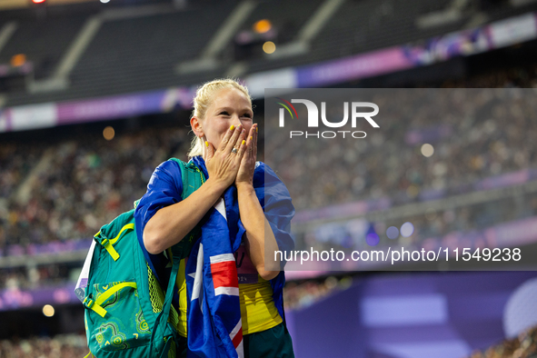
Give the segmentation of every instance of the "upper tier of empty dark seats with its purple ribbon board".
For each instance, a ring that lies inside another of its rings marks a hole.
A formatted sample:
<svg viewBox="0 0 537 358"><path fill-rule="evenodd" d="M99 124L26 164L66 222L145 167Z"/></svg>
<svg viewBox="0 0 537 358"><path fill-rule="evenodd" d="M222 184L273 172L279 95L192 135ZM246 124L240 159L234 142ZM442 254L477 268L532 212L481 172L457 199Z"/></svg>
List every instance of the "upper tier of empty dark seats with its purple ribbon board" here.
<svg viewBox="0 0 537 358"><path fill-rule="evenodd" d="M537 37L536 2L472 4L229 0L37 21L0 13L0 64L25 54L35 68L24 88L0 95L0 131L189 108L194 88L216 77L239 77L262 97L265 87L337 85ZM276 51L235 58L237 36L262 18Z"/></svg>

